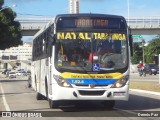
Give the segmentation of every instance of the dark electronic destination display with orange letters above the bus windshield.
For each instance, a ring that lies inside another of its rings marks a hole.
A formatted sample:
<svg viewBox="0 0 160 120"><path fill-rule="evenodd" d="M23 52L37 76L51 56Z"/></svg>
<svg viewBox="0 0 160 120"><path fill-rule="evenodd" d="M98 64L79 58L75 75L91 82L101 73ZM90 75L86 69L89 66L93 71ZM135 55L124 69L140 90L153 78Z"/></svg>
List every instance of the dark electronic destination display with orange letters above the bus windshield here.
<svg viewBox="0 0 160 120"><path fill-rule="evenodd" d="M121 18L106 17L61 17L57 20L57 30L68 28L91 29L126 29L126 22Z"/></svg>

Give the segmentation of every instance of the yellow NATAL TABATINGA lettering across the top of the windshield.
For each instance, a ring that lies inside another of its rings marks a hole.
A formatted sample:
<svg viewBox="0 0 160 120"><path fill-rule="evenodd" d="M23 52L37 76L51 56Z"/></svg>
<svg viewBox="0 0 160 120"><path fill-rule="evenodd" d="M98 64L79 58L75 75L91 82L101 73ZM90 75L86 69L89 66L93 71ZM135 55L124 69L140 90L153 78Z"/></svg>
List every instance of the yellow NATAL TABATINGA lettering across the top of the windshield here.
<svg viewBox="0 0 160 120"><path fill-rule="evenodd" d="M92 36L92 37L91 37ZM58 40L76 40L76 39L82 39L82 40L91 40L91 39L97 39L97 40L107 40L107 39L112 39L112 40L126 40L126 35L125 34L120 34L120 33L113 33L113 34L108 34L108 33L87 33L87 32L58 32L57 33L57 39Z"/></svg>

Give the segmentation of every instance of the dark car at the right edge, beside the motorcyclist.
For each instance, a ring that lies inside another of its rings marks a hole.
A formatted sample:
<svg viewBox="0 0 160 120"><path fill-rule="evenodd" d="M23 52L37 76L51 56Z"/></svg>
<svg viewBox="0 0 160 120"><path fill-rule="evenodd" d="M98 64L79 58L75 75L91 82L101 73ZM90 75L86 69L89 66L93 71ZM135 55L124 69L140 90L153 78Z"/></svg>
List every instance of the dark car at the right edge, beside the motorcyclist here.
<svg viewBox="0 0 160 120"><path fill-rule="evenodd" d="M159 74L159 67L156 64L146 64L144 65L143 71L145 74L156 75L156 74Z"/></svg>

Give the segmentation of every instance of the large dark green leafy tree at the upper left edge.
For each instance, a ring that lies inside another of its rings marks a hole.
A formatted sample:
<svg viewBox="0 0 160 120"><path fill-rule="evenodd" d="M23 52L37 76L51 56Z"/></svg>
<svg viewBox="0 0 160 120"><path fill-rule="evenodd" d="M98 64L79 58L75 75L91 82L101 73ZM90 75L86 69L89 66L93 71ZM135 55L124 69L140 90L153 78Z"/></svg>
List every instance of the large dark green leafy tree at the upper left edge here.
<svg viewBox="0 0 160 120"><path fill-rule="evenodd" d="M2 9L4 0L0 0L0 9ZM0 11L0 49L4 50L10 47L21 45L20 23L14 21L16 13L11 8L5 8Z"/></svg>

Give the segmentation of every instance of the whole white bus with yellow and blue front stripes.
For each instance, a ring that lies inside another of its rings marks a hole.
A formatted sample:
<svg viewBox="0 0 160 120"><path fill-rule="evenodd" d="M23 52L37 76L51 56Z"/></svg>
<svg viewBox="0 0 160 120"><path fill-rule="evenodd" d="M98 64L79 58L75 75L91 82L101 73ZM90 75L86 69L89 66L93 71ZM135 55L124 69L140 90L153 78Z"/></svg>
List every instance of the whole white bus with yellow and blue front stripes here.
<svg viewBox="0 0 160 120"><path fill-rule="evenodd" d="M129 97L132 36L122 16L62 14L33 40L32 86L50 108L96 100L112 108Z"/></svg>

